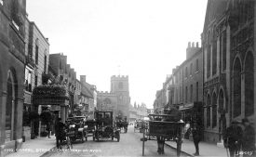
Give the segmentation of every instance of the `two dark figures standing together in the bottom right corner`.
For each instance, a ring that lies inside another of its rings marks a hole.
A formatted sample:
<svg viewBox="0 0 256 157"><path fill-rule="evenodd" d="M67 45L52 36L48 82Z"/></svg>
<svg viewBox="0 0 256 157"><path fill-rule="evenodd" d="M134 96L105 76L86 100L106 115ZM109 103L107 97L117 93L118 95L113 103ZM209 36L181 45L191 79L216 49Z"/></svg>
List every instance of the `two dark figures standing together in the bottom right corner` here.
<svg viewBox="0 0 256 157"><path fill-rule="evenodd" d="M242 125L233 121L226 129L223 136L224 146L229 150L230 156L254 156L255 155L255 130L244 118ZM242 150L242 152L240 152Z"/></svg>

